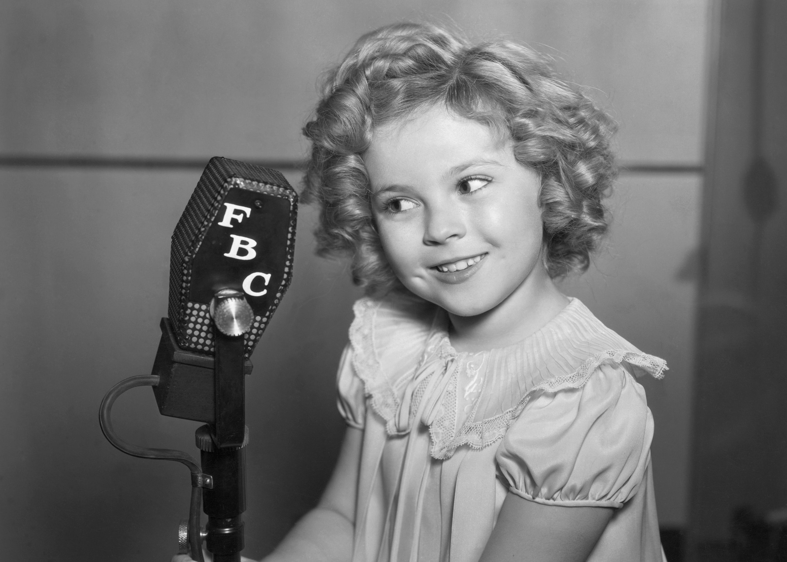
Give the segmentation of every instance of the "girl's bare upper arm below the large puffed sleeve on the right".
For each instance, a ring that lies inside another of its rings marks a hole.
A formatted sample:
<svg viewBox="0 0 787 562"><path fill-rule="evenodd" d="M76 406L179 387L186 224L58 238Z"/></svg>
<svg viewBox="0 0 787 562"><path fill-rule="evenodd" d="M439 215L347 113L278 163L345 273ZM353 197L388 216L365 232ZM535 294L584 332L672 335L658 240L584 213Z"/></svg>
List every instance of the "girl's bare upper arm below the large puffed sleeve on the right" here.
<svg viewBox="0 0 787 562"><path fill-rule="evenodd" d="M480 562L585 562L614 512L543 505L509 493Z"/></svg>

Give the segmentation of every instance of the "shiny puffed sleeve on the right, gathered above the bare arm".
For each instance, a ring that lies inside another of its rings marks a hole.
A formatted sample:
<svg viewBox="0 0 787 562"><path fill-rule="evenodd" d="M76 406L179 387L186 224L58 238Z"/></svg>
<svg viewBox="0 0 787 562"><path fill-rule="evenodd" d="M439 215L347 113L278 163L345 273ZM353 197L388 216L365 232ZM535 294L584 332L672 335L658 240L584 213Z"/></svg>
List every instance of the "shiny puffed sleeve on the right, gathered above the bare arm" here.
<svg viewBox="0 0 787 562"><path fill-rule="evenodd" d="M580 388L534 394L495 459L527 500L620 508L637 493L652 437L645 390L619 364L601 364Z"/></svg>

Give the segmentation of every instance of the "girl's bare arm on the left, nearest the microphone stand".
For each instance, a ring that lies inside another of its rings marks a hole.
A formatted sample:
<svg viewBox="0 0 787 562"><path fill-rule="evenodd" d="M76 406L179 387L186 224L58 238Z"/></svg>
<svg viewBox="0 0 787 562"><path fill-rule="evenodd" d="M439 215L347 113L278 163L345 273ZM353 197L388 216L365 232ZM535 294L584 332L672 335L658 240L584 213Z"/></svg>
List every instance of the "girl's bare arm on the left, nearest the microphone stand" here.
<svg viewBox="0 0 787 562"><path fill-rule="evenodd" d="M345 562L350 559L363 435L360 429L347 428L336 468L320 503L297 522L264 562Z"/></svg>

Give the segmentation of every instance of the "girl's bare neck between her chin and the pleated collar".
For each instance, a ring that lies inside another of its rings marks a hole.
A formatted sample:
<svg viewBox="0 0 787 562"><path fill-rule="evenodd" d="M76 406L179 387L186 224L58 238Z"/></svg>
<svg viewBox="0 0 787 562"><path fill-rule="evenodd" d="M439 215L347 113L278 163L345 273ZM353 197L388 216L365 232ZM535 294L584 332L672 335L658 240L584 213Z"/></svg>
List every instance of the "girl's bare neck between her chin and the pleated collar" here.
<svg viewBox="0 0 787 562"><path fill-rule="evenodd" d="M459 352L510 346L540 330L567 304L566 296L541 270L493 309L477 316L449 312L451 345Z"/></svg>

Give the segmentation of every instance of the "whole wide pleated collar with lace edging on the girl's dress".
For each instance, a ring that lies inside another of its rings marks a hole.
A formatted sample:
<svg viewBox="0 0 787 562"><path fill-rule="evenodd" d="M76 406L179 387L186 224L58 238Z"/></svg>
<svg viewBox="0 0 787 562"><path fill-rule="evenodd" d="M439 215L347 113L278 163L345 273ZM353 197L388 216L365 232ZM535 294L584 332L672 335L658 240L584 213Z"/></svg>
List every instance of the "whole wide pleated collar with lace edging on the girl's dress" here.
<svg viewBox="0 0 787 562"><path fill-rule="evenodd" d="M605 327L577 298L521 342L480 353L456 352L447 314L421 299L362 298L354 310L353 366L372 409L390 435L427 426L430 454L437 459L460 446L481 449L496 442L536 392L578 388L600 364L657 379L667 369L664 360ZM479 356L486 365L480 391L457 427L457 379Z"/></svg>

